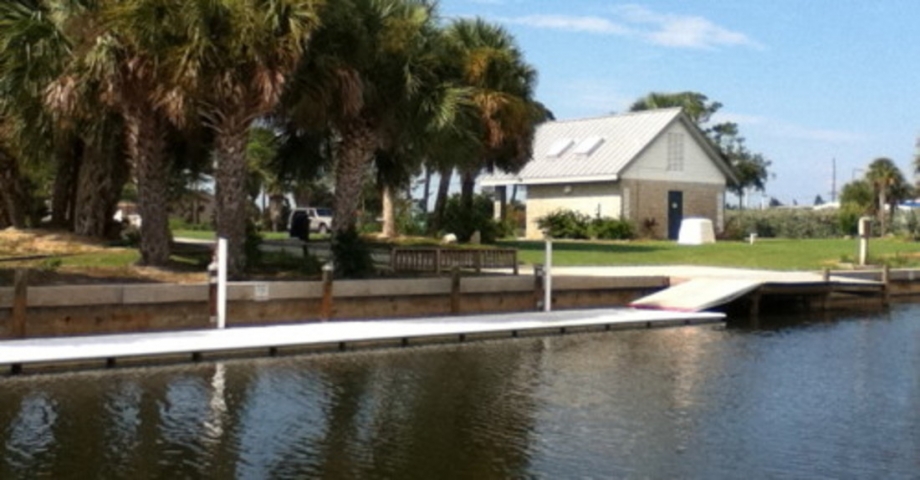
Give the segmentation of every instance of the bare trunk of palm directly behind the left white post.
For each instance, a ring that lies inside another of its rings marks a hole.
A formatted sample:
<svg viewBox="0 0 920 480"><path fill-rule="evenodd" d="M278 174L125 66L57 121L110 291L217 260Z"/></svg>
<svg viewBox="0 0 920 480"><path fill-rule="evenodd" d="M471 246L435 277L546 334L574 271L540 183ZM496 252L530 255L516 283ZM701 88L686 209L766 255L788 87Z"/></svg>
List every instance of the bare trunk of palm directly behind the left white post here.
<svg viewBox="0 0 920 480"><path fill-rule="evenodd" d="M246 193L249 122L237 117L225 116L215 129L217 235L227 239L227 271L232 276L238 276L246 268L246 223L249 219L249 195Z"/></svg>

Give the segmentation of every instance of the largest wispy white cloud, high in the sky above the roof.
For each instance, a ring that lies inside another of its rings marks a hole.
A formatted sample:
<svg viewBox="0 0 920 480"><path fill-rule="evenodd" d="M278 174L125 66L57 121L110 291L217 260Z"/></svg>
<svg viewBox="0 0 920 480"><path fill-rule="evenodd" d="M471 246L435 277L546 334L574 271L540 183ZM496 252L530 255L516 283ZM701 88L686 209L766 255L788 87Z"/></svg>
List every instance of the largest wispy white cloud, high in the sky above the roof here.
<svg viewBox="0 0 920 480"><path fill-rule="evenodd" d="M639 5L623 5L614 8L612 12L616 18L596 15L525 15L505 21L534 28L638 38L674 48L761 48L747 35L720 27L699 16L658 13Z"/></svg>

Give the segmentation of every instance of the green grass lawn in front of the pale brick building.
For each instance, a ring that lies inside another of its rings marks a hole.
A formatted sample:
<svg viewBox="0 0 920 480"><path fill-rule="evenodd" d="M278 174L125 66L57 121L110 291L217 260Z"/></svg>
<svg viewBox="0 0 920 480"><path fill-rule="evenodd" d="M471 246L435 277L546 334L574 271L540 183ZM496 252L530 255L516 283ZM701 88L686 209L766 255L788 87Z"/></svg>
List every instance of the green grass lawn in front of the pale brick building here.
<svg viewBox="0 0 920 480"><path fill-rule="evenodd" d="M518 249L518 258L528 264L543 263L543 242L502 242ZM820 270L839 268L857 258L856 239L788 240L759 239L746 242L718 242L708 245L677 245L674 242L579 242L553 243L553 264L586 265L706 265L773 270ZM920 243L900 239L873 239L870 262L892 267L920 266Z"/></svg>

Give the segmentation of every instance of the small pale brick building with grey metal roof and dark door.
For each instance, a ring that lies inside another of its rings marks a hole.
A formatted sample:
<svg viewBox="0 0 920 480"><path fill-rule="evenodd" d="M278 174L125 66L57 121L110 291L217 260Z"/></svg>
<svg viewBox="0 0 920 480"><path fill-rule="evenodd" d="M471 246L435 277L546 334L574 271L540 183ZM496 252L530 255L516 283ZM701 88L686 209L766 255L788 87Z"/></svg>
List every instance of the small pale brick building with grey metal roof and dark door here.
<svg viewBox="0 0 920 480"><path fill-rule="evenodd" d="M547 122L533 158L518 173L480 179L504 202L507 187L527 188L526 237L543 237L537 219L569 209L628 219L640 231L676 239L684 217L724 226L734 170L680 108Z"/></svg>

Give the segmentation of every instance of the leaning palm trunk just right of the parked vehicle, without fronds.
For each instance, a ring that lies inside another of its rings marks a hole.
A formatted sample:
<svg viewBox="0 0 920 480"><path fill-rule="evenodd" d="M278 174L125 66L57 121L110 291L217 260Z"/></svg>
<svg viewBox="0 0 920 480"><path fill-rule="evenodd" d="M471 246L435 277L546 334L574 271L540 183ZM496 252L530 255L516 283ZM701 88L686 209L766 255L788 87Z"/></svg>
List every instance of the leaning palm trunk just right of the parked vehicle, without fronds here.
<svg viewBox="0 0 920 480"><path fill-rule="evenodd" d="M376 136L367 125L352 122L340 133L335 165L334 237L356 227L364 169L377 148Z"/></svg>

